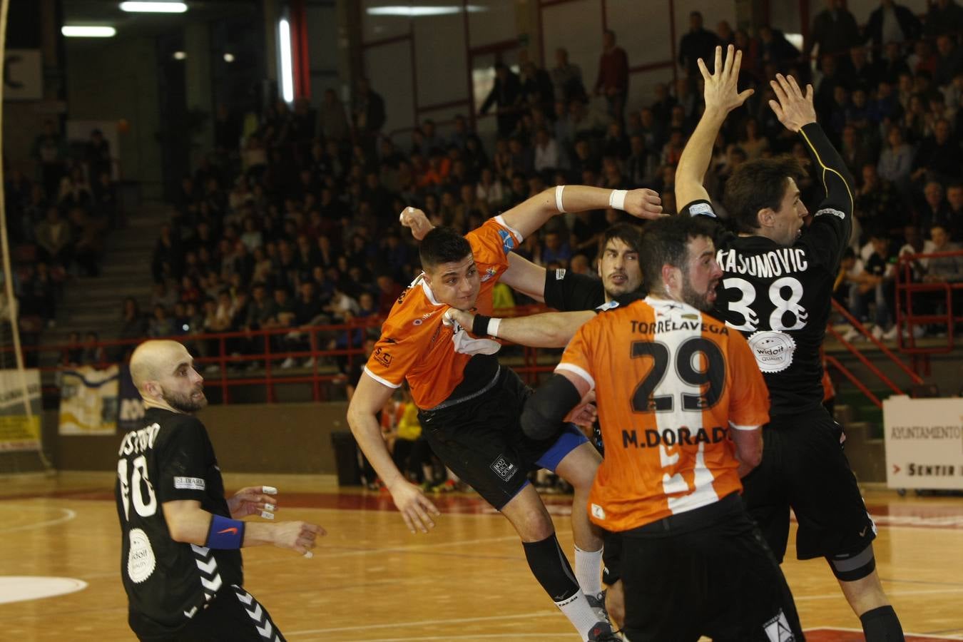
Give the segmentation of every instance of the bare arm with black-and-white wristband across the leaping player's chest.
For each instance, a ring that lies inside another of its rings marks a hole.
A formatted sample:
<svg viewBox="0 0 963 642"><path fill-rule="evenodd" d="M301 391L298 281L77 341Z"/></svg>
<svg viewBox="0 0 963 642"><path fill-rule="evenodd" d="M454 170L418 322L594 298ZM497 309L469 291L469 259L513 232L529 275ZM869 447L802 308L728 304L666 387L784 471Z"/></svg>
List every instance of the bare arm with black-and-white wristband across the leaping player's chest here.
<svg viewBox="0 0 963 642"><path fill-rule="evenodd" d="M455 308L445 314L458 321L461 327L470 329L475 336L496 337L528 347L565 347L579 327L595 317L592 310L544 312L508 319L491 319Z"/></svg>

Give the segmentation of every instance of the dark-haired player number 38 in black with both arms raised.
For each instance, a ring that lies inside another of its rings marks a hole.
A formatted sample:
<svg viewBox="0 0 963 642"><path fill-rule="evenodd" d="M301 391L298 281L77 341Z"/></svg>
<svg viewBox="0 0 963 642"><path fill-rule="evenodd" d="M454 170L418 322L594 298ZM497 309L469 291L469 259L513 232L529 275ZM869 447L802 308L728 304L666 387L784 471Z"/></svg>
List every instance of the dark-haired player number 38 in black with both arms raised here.
<svg viewBox="0 0 963 642"><path fill-rule="evenodd" d="M716 47L713 73L700 60L706 110L676 170L682 215L715 217L703 187L713 143L729 112L752 93L737 88L741 52L725 61ZM825 197L812 224L790 160L742 164L726 182L723 202L737 229L719 229L717 262L723 277L717 318L737 328L755 352L771 398L762 464L744 480L742 495L769 547L782 560L789 510L798 530L799 559L825 557L870 642L902 640L896 612L875 571L876 528L840 446L842 429L822 407L820 346L829 319L832 285L852 231L853 180L839 152L816 122L813 88L777 75L770 100L779 121L797 133L812 159Z"/></svg>

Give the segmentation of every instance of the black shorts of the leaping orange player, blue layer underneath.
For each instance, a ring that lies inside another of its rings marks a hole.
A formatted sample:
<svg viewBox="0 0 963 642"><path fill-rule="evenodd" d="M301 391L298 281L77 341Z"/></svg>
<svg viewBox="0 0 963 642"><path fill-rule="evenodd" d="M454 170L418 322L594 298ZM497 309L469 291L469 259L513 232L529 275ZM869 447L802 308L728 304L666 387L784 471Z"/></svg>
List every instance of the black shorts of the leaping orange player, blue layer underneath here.
<svg viewBox="0 0 963 642"><path fill-rule="evenodd" d="M418 421L431 449L455 475L501 510L529 482L528 473L554 471L588 440L574 426L549 439L529 439L520 418L532 394L515 372L502 368L494 387L441 410L422 410Z"/></svg>

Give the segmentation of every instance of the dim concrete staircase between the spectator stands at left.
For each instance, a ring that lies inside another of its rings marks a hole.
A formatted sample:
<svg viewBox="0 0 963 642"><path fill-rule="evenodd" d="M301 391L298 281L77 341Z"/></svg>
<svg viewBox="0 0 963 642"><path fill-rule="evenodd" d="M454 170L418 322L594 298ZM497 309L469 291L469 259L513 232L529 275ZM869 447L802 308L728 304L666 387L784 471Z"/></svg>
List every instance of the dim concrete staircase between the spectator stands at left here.
<svg viewBox="0 0 963 642"><path fill-rule="evenodd" d="M144 203L128 214L124 227L110 233L100 275L76 276L65 285L57 323L43 331L42 346L63 345L70 332L79 332L81 340L91 331L101 340L116 339L127 296L136 298L146 311L152 286L150 260L168 211L163 203ZM57 356L41 353L40 365L54 365Z"/></svg>

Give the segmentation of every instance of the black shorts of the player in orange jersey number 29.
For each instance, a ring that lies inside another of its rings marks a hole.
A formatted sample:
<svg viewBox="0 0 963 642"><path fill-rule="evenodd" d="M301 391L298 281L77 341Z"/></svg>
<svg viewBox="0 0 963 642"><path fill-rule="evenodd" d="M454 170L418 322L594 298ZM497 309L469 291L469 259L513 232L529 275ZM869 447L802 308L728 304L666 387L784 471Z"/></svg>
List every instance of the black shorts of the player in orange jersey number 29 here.
<svg viewBox="0 0 963 642"><path fill-rule="evenodd" d="M799 642L793 595L738 495L622 533L632 642Z"/></svg>

